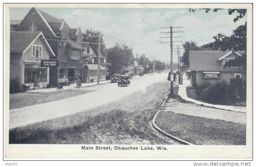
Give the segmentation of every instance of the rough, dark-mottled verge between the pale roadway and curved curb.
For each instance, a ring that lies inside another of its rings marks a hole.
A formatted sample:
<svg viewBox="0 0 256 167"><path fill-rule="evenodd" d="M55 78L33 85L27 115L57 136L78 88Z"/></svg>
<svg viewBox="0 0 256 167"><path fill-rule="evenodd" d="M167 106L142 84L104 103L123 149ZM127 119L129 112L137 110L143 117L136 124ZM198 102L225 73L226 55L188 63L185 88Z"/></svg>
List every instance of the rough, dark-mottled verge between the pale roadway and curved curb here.
<svg viewBox="0 0 256 167"><path fill-rule="evenodd" d="M152 127L169 92L160 81L93 109L11 129L9 143L40 144L179 144Z"/></svg>

